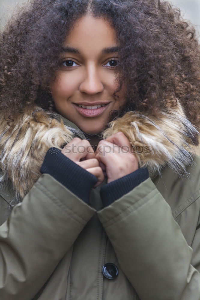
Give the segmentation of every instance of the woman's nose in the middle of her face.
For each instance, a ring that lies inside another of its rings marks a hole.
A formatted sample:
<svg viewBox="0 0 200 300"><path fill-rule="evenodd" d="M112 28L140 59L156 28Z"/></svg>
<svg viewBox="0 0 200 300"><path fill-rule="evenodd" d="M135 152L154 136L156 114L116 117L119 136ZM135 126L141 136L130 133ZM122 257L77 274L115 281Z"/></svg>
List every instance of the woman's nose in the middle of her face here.
<svg viewBox="0 0 200 300"><path fill-rule="evenodd" d="M85 77L79 86L80 92L94 95L102 92L103 89L104 85L100 79L98 70L96 70L95 68L87 70L85 73Z"/></svg>

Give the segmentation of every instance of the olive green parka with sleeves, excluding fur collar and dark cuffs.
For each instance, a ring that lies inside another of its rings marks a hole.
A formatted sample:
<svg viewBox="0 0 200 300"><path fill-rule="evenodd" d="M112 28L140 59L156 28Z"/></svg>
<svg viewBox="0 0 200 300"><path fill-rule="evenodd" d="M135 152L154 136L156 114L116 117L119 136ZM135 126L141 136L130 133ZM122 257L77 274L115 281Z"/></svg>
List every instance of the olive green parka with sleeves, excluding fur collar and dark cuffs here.
<svg viewBox="0 0 200 300"><path fill-rule="evenodd" d="M64 119L65 124L76 126ZM42 174L12 212L0 190L1 300L199 300L200 158L170 167L102 208ZM109 280L102 267L114 263Z"/></svg>

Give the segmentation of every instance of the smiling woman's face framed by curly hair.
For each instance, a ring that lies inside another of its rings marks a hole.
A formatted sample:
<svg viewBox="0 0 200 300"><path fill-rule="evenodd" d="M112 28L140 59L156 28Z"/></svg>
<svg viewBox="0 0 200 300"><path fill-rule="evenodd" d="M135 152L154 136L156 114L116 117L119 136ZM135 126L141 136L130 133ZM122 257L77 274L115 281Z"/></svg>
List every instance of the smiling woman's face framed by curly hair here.
<svg viewBox="0 0 200 300"><path fill-rule="evenodd" d="M75 23L63 46L62 64L50 85L56 110L83 132L99 134L110 111L125 104L123 88L117 101L113 97L119 60L115 31L104 19L86 15Z"/></svg>

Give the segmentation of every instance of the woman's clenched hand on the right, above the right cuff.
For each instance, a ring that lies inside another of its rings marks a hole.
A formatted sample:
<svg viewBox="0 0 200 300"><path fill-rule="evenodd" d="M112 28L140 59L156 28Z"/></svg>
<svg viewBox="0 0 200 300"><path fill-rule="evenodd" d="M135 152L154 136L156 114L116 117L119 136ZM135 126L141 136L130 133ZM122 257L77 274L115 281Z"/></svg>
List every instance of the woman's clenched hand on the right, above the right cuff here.
<svg viewBox="0 0 200 300"><path fill-rule="evenodd" d="M108 183L138 169L133 147L121 131L98 143L95 158L106 173Z"/></svg>

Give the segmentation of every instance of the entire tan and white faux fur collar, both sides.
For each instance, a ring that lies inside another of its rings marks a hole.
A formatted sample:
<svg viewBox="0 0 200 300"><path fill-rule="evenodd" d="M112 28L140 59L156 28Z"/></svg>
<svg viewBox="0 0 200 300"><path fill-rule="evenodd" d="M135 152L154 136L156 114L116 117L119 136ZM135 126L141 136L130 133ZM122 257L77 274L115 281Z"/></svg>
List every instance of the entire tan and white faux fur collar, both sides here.
<svg viewBox="0 0 200 300"><path fill-rule="evenodd" d="M157 118L130 111L112 121L102 138L118 131L135 146L140 167L147 167L150 172L160 172L168 164L181 175L186 171L185 165L192 164L189 144L197 131L179 103L177 107L166 107ZM62 149L75 136L85 138L76 125L39 107L27 110L14 120L12 127L3 117L0 119L0 183L10 182L13 187L11 206L21 202L38 180L47 150Z"/></svg>

